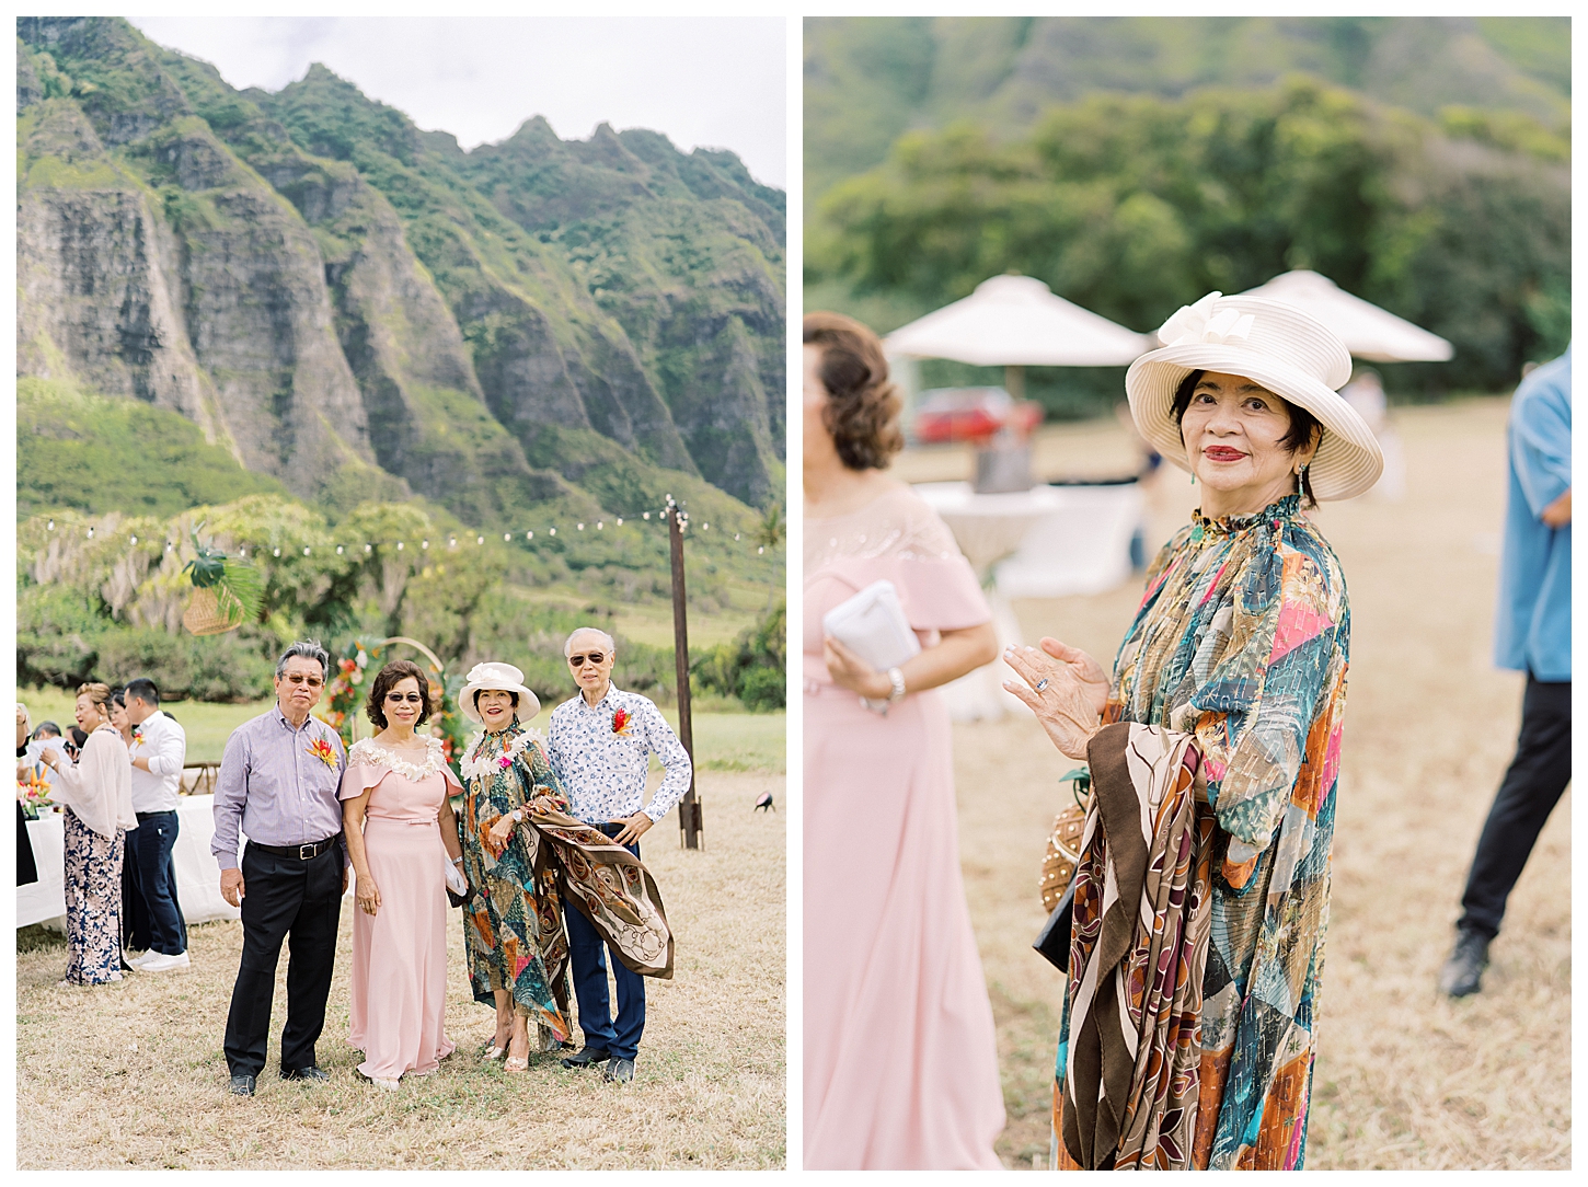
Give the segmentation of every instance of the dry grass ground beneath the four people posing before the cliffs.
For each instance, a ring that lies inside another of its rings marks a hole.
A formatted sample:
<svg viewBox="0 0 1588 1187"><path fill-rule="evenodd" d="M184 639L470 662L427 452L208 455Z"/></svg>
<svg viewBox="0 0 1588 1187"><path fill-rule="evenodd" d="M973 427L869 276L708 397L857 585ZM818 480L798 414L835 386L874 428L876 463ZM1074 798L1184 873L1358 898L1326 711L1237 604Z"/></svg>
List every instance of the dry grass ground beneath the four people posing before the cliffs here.
<svg viewBox="0 0 1588 1187"><path fill-rule="evenodd" d="M221 1038L241 949L240 924L191 932L192 970L129 973L118 985L62 989L65 947L19 952L21 1170L503 1170L743 1168L784 1165L783 776L703 771L707 847L678 846L676 814L642 849L676 935L672 981L648 984L635 1081L534 1060L524 1074L483 1066L492 1011L475 1005L462 927L449 927L448 1033L440 1074L386 1093L359 1081L348 1046L351 898L318 1057L324 1087L276 1078L286 958L259 1095L227 1095Z"/></svg>

